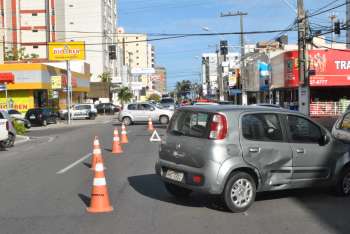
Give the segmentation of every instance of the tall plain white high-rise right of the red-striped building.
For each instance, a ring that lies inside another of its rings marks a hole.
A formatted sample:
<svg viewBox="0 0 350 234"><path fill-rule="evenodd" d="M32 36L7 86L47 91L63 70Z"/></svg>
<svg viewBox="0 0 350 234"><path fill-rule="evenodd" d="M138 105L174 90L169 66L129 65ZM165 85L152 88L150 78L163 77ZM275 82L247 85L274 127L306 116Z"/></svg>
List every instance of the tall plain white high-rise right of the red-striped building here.
<svg viewBox="0 0 350 234"><path fill-rule="evenodd" d="M120 82L115 63L108 56L108 47L115 42L116 4L116 0L56 0L56 40L85 41L92 82L100 81L98 76L104 72L111 73L112 82Z"/></svg>

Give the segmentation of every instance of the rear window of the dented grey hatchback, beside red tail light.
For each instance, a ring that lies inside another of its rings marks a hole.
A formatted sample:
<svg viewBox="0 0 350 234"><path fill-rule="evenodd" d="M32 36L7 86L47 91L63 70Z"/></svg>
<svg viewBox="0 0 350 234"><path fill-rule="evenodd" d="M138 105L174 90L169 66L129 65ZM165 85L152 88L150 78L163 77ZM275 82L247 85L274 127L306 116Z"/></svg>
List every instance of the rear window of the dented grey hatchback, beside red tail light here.
<svg viewBox="0 0 350 234"><path fill-rule="evenodd" d="M174 135L207 138L210 114L203 112L178 111L174 114L168 132Z"/></svg>

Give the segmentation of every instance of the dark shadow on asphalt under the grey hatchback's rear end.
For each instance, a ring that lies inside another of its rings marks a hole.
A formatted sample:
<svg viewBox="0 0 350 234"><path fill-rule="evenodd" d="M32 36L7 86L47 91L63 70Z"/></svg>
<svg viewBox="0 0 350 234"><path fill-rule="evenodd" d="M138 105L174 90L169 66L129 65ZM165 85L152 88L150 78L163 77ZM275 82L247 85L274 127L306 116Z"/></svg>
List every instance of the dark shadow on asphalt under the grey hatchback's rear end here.
<svg viewBox="0 0 350 234"><path fill-rule="evenodd" d="M176 199L165 190L163 182L160 180L159 176L155 174L132 176L128 178L128 181L130 186L138 193L155 200L173 203L180 206L207 207L213 210L228 212L225 205L217 196L193 193L189 198L181 200Z"/></svg>

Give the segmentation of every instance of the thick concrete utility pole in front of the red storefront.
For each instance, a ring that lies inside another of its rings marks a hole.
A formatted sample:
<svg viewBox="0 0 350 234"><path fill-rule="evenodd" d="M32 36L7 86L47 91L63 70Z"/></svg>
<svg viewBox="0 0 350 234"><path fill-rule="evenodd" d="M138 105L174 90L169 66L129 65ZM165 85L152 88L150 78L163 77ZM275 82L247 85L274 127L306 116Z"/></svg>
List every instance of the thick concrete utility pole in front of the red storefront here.
<svg viewBox="0 0 350 234"><path fill-rule="evenodd" d="M304 1L298 0L298 70L299 70L299 111L310 114L310 82L307 71L307 38L308 20L304 10Z"/></svg>

